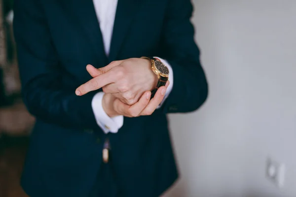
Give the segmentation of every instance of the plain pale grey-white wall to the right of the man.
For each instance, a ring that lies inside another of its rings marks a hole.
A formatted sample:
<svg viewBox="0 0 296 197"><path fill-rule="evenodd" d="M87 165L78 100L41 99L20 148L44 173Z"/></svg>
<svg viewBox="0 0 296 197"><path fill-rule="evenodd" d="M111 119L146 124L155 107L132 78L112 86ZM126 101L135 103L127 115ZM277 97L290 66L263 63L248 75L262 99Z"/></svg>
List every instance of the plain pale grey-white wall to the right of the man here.
<svg viewBox="0 0 296 197"><path fill-rule="evenodd" d="M296 197L296 0L194 0L210 95L170 115L182 178L166 197ZM286 183L265 178L284 162Z"/></svg>

